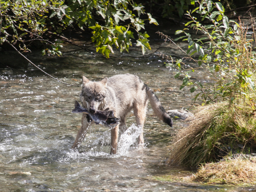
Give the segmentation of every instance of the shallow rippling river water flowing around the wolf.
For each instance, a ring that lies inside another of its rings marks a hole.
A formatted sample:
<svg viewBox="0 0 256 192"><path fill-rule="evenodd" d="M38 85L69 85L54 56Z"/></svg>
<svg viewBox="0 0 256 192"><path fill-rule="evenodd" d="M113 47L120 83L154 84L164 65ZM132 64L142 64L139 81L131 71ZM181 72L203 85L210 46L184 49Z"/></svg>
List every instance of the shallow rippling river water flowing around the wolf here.
<svg viewBox="0 0 256 192"><path fill-rule="evenodd" d="M81 46L88 46L83 42ZM186 47L186 43L179 43ZM116 53L110 59L66 45L63 56L33 52L27 57L66 83L81 85L82 76L101 80L116 74L137 74L160 99L166 110L192 109L193 94L179 90L182 79L165 67L157 54L184 55L160 38L151 40L152 51L141 57L140 48ZM89 49L89 48L88 48ZM90 47L93 51L93 47ZM156 51L157 50L157 51ZM71 52L70 52L71 51ZM155 52L156 51L156 52ZM136 145L140 130L133 113L129 129L110 155L109 128L93 125L78 152L71 150L81 126L81 114L72 114L81 87L67 86L44 75L13 51L0 53L0 191L255 191L254 187L205 185L186 181L196 168L166 166L165 155L172 137L186 126L174 120L173 128L161 122L150 105L144 127L145 146ZM192 74L194 78L202 78ZM202 78L203 81L203 78Z"/></svg>

